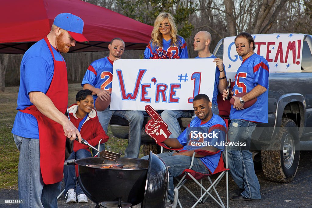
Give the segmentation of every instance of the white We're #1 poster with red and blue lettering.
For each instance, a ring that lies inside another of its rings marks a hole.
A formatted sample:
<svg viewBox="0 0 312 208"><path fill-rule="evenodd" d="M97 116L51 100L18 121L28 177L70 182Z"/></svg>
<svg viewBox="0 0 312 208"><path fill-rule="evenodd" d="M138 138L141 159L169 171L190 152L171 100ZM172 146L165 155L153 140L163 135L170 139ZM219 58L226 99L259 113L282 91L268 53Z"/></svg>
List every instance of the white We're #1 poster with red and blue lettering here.
<svg viewBox="0 0 312 208"><path fill-rule="evenodd" d="M123 59L113 65L110 110L193 109L200 93L212 100L214 59Z"/></svg>

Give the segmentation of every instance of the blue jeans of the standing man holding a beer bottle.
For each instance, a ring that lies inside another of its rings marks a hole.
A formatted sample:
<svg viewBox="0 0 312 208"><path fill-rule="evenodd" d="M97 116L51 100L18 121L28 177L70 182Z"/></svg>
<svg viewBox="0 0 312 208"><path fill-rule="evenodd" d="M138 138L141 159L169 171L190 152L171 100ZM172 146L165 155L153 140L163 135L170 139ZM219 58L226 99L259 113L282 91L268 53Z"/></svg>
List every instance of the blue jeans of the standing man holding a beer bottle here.
<svg viewBox="0 0 312 208"><path fill-rule="evenodd" d="M241 119L232 119L228 139L231 142L247 142L250 147L251 134L256 128L256 123ZM252 153L248 150L239 150L237 147L228 148L228 167L237 186L244 191L242 196L249 199L261 199L260 184L255 173Z"/></svg>

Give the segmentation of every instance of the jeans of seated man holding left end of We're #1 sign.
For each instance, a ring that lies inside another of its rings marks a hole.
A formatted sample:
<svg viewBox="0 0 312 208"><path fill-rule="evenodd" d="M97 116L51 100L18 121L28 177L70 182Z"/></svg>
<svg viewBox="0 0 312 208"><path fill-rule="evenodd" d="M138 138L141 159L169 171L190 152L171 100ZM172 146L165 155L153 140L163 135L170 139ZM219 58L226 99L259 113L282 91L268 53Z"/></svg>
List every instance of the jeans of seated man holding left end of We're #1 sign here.
<svg viewBox="0 0 312 208"><path fill-rule="evenodd" d="M97 113L105 132L107 132L107 127L113 114L129 121L128 147L125 150L124 156L138 158L141 146L141 132L144 119L143 113L137 110L109 110L109 108L103 111L98 111ZM103 147L104 143L103 145L100 145L100 151L104 149ZM94 152L92 153L94 155Z"/></svg>

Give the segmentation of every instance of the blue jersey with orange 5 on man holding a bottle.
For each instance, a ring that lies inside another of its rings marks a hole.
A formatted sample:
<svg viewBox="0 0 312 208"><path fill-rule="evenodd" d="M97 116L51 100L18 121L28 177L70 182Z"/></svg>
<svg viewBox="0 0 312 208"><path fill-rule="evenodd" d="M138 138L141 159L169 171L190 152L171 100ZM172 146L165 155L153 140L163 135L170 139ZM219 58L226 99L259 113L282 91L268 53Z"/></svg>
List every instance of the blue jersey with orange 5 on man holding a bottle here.
<svg viewBox="0 0 312 208"><path fill-rule="evenodd" d="M269 64L265 58L254 53L241 63L238 68L233 92L250 92L257 85L266 88L266 92L257 98L257 102L249 108L236 110L231 108L231 119L243 119L260 123L268 123Z"/></svg>

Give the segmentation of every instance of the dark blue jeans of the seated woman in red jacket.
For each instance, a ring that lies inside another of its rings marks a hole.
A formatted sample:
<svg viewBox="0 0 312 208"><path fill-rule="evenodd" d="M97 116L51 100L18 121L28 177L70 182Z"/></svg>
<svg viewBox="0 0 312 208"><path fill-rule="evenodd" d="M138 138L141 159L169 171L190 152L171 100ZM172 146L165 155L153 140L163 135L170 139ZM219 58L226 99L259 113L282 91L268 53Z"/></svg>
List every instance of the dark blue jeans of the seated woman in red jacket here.
<svg viewBox="0 0 312 208"><path fill-rule="evenodd" d="M91 157L91 152L86 149L79 149L77 152L71 152L71 155L67 160L77 160L80 158ZM66 195L67 191L73 188L76 192L76 195L84 194L81 190L79 183L77 182L76 174L75 174L75 166L74 165L65 165L64 166L64 182L65 182L65 191L64 195ZM77 184L77 186L76 186Z"/></svg>

